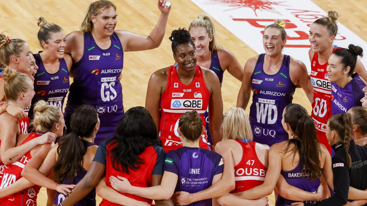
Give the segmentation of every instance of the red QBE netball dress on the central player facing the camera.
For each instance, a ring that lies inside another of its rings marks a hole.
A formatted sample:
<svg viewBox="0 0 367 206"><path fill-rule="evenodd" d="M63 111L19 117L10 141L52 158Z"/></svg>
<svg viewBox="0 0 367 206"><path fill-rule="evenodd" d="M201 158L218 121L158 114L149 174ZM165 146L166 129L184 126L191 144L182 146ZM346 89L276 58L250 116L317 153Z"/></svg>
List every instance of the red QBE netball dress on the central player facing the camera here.
<svg viewBox="0 0 367 206"><path fill-rule="evenodd" d="M159 137L163 148L167 152L182 147L177 131L179 118L186 111L196 110L203 119L204 126L199 146L208 149L210 143L207 141L204 113L208 107L210 93L204 81L203 71L196 65L195 77L189 85L185 85L178 78L176 68L177 65L173 65L168 69L166 90L161 95Z"/></svg>

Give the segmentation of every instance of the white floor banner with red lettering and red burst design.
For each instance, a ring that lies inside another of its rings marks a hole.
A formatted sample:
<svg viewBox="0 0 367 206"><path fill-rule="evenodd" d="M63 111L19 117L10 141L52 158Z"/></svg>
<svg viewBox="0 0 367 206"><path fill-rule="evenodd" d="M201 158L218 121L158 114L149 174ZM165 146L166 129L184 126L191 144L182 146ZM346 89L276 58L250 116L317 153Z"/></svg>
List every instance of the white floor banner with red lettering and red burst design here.
<svg viewBox="0 0 367 206"><path fill-rule="evenodd" d="M301 60L311 72L308 50L309 28L316 19L326 16L322 10L310 0L191 0L204 12L221 23L240 40L254 49L258 54L264 53L262 33L266 25L275 19L286 22L287 44L283 53ZM344 16L344 18L348 18ZM220 35L217 33L217 35ZM222 43L225 46L225 43ZM338 23L338 34L335 45L348 47L355 44L367 51L367 43L347 27ZM361 59L367 66L366 58Z"/></svg>

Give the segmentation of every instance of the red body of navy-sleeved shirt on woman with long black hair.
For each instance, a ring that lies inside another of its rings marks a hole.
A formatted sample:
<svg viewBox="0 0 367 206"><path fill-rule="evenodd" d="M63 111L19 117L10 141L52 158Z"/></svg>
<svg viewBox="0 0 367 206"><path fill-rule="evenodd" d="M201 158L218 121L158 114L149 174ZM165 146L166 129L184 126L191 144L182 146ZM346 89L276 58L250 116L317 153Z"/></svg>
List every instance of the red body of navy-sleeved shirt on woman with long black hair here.
<svg viewBox="0 0 367 206"><path fill-rule="evenodd" d="M106 159L107 159L107 162L106 162L106 182L107 182L108 187L112 188L111 183L109 181L110 176L125 177L126 179L128 179L130 181L130 184L135 186L135 187L151 187L152 186L152 181L151 181L152 171L153 171L154 166L156 165L156 159L157 159L157 152L155 151L154 147L153 146L146 147L145 150L141 154L139 154L139 158L141 158L144 161L143 164L139 165L139 169L130 170L129 173L125 173L125 172L117 171L112 166L112 157L111 157L110 151L112 150L112 148L114 148L116 146L116 144L112 144L112 143L110 143L107 146L107 154L106 154ZM155 161L146 161L146 160L155 160ZM121 167L120 167L120 170L123 171L123 169ZM137 201L146 202L146 203L154 206L151 199L142 198L140 196L131 195L131 194L122 193L122 192L119 192L119 193L124 195L124 196L127 196L129 198L135 199ZM122 204L123 203L121 202L121 205ZM101 206L117 206L118 204L115 204L115 203L112 203L112 202L109 202L109 201L103 199L102 202L99 205L101 205Z"/></svg>

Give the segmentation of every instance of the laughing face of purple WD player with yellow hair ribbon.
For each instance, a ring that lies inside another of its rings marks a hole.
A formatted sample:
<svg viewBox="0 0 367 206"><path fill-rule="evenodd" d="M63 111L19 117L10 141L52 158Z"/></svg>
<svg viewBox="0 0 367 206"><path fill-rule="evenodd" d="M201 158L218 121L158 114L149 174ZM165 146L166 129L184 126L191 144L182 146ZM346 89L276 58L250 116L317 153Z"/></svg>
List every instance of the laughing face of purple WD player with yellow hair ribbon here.
<svg viewBox="0 0 367 206"><path fill-rule="evenodd" d="M281 39L281 31L279 29L270 27L264 31L262 44L264 45L266 55L274 56L281 54L281 50L286 45L286 40Z"/></svg>

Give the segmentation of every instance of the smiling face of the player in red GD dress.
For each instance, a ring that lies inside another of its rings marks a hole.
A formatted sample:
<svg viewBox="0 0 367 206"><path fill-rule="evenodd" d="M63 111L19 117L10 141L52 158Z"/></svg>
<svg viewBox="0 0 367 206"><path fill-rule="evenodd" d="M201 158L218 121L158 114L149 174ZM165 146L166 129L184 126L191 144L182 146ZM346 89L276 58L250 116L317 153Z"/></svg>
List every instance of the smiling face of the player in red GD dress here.
<svg viewBox="0 0 367 206"><path fill-rule="evenodd" d="M308 40L311 43L313 52L323 52L330 48L335 36L330 36L326 26L313 23L310 27Z"/></svg>

